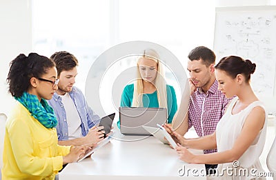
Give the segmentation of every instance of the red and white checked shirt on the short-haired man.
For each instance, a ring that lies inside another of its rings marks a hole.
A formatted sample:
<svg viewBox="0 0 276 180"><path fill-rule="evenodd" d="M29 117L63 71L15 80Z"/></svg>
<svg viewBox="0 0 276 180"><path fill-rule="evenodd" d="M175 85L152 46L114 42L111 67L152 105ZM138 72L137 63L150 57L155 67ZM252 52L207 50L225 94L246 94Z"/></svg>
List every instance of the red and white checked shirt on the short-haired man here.
<svg viewBox="0 0 276 180"><path fill-rule="evenodd" d="M206 92L197 89L190 96L188 123L189 128L194 126L199 137L206 136L215 132L217 123L224 114L224 110L228 102L227 99L218 88L217 80ZM204 154L217 152L217 150L204 150Z"/></svg>

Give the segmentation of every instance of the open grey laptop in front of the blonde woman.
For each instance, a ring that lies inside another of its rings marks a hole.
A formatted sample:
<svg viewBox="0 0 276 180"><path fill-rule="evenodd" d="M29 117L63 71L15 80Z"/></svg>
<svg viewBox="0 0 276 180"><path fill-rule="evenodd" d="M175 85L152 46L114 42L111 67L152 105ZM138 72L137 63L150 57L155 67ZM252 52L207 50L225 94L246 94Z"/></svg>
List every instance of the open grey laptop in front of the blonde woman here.
<svg viewBox="0 0 276 180"><path fill-rule="evenodd" d="M167 122L166 108L119 107L121 134L151 135L142 126L157 127Z"/></svg>

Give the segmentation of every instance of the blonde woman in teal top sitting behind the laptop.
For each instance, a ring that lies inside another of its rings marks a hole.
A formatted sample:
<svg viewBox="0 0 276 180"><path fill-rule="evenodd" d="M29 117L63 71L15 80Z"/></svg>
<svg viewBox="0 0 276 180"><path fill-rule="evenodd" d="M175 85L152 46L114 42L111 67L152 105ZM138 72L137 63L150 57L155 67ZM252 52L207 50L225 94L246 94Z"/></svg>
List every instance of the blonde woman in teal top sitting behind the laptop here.
<svg viewBox="0 0 276 180"><path fill-rule="evenodd" d="M172 123L177 111L175 89L166 84L159 55L155 50L145 50L144 55L139 58L137 79L124 88L120 106L167 108L168 123ZM120 128L119 121L117 126Z"/></svg>

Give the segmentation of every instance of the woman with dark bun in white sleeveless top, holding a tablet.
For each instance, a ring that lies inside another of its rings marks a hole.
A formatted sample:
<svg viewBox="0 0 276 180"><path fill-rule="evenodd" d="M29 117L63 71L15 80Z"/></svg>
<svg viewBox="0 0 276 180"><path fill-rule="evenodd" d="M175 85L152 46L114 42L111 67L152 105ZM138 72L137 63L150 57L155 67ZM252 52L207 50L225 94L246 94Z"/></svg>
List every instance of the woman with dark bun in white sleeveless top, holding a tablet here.
<svg viewBox="0 0 276 180"><path fill-rule="evenodd" d="M215 66L219 90L228 98L236 97L229 103L213 134L184 139L172 132L179 141L176 149L181 160L188 163L218 163L215 174L218 179L259 179L258 173L264 172L259 156L266 140L267 117L263 103L257 99L249 83L255 67L250 60L235 56L224 57ZM186 148L217 148L217 152L195 155Z"/></svg>

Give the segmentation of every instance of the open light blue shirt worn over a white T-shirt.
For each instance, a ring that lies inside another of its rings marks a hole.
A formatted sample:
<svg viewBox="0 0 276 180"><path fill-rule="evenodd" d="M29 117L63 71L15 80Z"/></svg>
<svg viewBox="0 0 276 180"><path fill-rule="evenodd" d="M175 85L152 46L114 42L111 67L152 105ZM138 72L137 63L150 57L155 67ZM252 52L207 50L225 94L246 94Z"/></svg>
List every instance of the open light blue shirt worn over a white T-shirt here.
<svg viewBox="0 0 276 180"><path fill-rule="evenodd" d="M73 87L72 91L69 92L69 95L75 103L77 112L81 118L81 134L85 137L90 128L99 124L100 117L88 106L88 103L79 88ZM68 140L66 111L61 101L61 97L59 97L59 94L55 92L52 99L48 100L48 103L55 110L55 115L59 121L57 124L57 137L59 138L59 141Z"/></svg>

